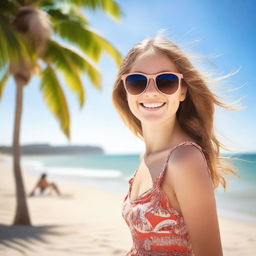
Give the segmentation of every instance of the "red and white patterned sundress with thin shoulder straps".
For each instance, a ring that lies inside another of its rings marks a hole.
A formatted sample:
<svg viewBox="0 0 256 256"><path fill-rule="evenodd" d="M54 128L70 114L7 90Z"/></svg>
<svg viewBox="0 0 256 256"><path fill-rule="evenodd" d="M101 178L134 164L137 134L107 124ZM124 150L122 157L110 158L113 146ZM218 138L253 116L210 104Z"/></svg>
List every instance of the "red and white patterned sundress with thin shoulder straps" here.
<svg viewBox="0 0 256 256"><path fill-rule="evenodd" d="M184 141L173 147L170 154L184 144L193 145L202 152L198 144ZM184 218L170 205L161 188L165 167L153 187L135 200L130 199L130 193L137 170L129 180L122 215L131 230L133 246L126 256L194 256ZM208 171L210 174L209 168Z"/></svg>

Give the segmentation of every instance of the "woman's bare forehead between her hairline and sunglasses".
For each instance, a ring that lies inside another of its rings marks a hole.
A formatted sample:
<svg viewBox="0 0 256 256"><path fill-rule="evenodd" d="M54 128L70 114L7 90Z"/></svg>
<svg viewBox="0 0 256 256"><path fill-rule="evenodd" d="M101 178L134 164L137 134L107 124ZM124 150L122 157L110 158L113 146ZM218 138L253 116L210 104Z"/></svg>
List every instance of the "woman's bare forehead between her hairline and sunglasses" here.
<svg viewBox="0 0 256 256"><path fill-rule="evenodd" d="M154 74L163 71L177 72L175 64L164 54L148 50L140 54L132 64L130 72Z"/></svg>

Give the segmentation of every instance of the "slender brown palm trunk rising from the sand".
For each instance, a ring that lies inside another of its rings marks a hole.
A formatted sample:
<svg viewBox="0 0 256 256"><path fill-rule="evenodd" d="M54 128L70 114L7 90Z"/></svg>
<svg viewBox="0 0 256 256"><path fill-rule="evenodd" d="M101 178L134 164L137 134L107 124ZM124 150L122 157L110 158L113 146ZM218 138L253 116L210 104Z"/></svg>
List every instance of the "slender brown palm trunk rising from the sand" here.
<svg viewBox="0 0 256 256"><path fill-rule="evenodd" d="M14 225L31 225L26 193L20 167L20 125L22 116L22 98L24 80L20 76L15 76L16 82L16 106L15 106L15 123L13 131L13 171L16 186L16 211L14 217Z"/></svg>

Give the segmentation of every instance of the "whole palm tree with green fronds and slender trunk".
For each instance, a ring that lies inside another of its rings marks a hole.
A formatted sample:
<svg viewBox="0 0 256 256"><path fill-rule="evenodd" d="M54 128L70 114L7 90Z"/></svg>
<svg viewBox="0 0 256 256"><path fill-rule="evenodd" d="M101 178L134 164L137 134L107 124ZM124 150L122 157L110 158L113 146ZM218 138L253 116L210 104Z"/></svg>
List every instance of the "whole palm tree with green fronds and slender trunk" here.
<svg viewBox="0 0 256 256"><path fill-rule="evenodd" d="M31 225L20 167L20 125L23 88L39 75L40 90L60 128L70 140L70 116L57 71L77 94L80 108L85 102L81 74L101 89L101 74L95 65L102 51L120 64L115 47L89 26L81 8L101 9L114 19L122 13L114 0L1 0L0 1L0 99L9 77L16 84L13 131L13 170L16 213L13 224ZM54 38L53 38L54 37ZM75 46L71 49L65 41Z"/></svg>

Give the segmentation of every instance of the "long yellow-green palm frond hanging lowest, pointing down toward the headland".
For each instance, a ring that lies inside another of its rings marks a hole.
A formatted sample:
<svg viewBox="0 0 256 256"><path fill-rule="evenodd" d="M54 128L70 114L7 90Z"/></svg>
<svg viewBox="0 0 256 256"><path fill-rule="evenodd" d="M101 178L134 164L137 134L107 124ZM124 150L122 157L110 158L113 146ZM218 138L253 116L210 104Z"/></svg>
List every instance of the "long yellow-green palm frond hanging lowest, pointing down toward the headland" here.
<svg viewBox="0 0 256 256"><path fill-rule="evenodd" d="M40 89L48 108L59 120L62 131L70 139L70 116L67 101L55 71L49 65L42 72Z"/></svg>

